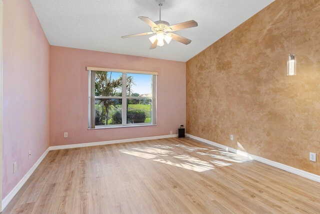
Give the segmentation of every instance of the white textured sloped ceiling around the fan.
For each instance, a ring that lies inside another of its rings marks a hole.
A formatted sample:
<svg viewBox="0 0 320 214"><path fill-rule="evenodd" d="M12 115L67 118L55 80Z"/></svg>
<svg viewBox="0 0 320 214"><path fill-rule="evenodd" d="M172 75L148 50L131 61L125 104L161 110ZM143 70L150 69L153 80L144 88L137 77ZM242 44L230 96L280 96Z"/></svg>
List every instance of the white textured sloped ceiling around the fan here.
<svg viewBox="0 0 320 214"><path fill-rule="evenodd" d="M161 20L198 27L176 31L192 42L173 41L149 50L150 32L137 17L159 20L155 0L30 0L50 45L186 62L274 0L166 0Z"/></svg>

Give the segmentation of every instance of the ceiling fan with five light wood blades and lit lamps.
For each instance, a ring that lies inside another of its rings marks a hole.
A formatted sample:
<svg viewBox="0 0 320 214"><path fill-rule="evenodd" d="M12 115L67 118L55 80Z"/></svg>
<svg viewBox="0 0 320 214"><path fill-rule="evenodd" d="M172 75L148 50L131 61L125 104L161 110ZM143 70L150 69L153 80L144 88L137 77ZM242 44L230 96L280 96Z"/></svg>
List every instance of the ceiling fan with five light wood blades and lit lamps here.
<svg viewBox="0 0 320 214"><path fill-rule="evenodd" d="M169 44L171 40L178 41L180 43L183 43L185 45L188 45L191 43L191 40L181 37L179 35L173 34L171 32L174 31L179 31L182 29L186 28L193 28L198 26L197 22L194 20L179 23L176 25L169 25L168 22L162 21L161 20L161 6L164 3L164 0L156 0L159 6L159 11L160 11L160 16L159 16L159 21L152 22L149 18L147 17L138 17L140 20L145 22L148 26L151 27L152 32L146 32L146 33L140 33L140 34L132 34L132 35L127 35L127 36L122 36L121 38L130 38L130 37L138 37L138 36L145 36L145 35L151 35L155 34L152 37L149 37L149 41L151 42L150 49L156 48L156 46L162 47L164 45L164 41Z"/></svg>

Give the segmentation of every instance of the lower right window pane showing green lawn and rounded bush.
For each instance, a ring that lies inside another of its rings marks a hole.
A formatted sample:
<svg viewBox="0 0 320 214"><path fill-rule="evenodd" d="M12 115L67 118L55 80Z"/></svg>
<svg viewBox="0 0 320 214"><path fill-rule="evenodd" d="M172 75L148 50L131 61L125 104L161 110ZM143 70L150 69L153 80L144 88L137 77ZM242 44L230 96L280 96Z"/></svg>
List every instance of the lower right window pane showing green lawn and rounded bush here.
<svg viewBox="0 0 320 214"><path fill-rule="evenodd" d="M127 124L151 123L151 99L127 99Z"/></svg>

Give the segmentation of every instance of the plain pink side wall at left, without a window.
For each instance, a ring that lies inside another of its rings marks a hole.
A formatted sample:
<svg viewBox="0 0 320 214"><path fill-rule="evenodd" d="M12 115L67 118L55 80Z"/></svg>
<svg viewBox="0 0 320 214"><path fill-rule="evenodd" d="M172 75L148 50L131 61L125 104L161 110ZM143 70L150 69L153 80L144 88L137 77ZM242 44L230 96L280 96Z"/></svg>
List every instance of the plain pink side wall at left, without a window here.
<svg viewBox="0 0 320 214"><path fill-rule="evenodd" d="M3 0L2 197L49 146L49 48L30 2Z"/></svg>

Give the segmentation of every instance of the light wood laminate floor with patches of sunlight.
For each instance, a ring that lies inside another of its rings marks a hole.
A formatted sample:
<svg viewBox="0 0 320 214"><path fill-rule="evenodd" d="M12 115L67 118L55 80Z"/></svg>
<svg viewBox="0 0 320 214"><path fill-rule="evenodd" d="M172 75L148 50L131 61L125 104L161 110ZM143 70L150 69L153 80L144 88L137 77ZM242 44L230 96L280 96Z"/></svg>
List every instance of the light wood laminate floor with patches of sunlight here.
<svg viewBox="0 0 320 214"><path fill-rule="evenodd" d="M320 213L320 183L168 138L50 151L3 213Z"/></svg>

